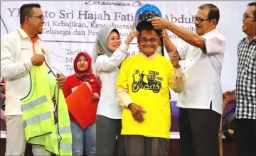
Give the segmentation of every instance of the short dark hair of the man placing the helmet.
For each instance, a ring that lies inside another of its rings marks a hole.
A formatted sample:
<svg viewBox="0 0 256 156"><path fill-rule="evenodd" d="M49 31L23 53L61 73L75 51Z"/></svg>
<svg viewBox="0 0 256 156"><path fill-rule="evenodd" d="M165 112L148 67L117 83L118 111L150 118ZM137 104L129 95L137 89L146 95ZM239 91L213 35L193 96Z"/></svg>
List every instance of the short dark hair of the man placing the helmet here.
<svg viewBox="0 0 256 156"><path fill-rule="evenodd" d="M203 4L201 6L198 7L198 9L210 9L209 13L208 13L208 19L215 19L216 20L216 26L218 24L218 21L220 20L220 10L217 8L217 6L213 5L213 4Z"/></svg>

